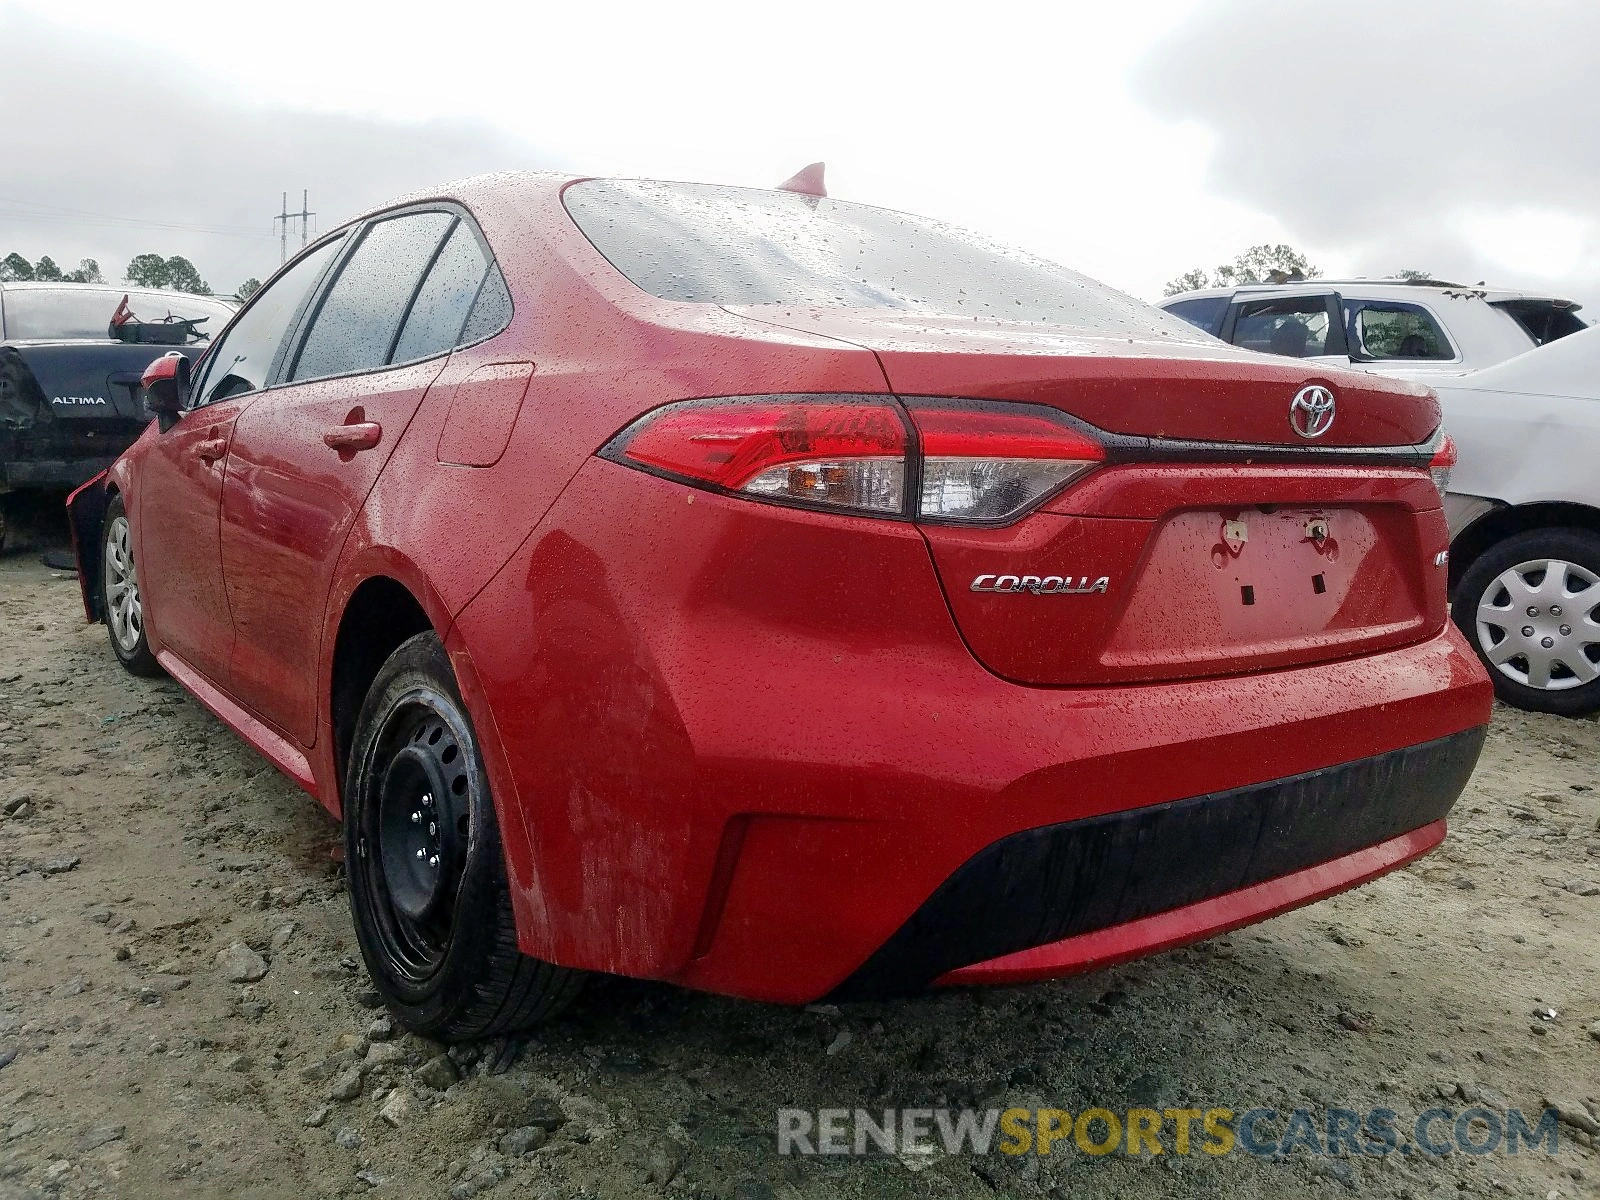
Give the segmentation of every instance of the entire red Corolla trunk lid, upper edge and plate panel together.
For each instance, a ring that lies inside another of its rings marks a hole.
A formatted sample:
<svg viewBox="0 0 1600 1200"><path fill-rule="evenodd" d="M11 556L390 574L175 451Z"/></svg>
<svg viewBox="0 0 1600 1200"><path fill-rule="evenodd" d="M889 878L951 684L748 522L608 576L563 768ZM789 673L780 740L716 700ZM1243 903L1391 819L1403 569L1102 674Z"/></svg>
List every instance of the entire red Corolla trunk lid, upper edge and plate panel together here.
<svg viewBox="0 0 1600 1200"><path fill-rule="evenodd" d="M1426 443L1438 406L1424 387L1211 339L840 309L744 315L872 349L902 397L1070 413L1125 435L1122 458L1149 453L1142 438L1211 443L1101 467L1005 528L923 523L962 635L1006 678L1072 685L1267 670L1374 653L1443 627L1437 555L1448 533L1432 480L1414 461L1349 461ZM1291 403L1310 384L1336 403L1317 438L1291 424ZM1238 446L1237 461L1214 461L1230 453L1216 443ZM1274 450L1253 461L1254 446ZM1296 448L1304 459L1291 456ZM1339 448L1352 451L1344 462Z"/></svg>

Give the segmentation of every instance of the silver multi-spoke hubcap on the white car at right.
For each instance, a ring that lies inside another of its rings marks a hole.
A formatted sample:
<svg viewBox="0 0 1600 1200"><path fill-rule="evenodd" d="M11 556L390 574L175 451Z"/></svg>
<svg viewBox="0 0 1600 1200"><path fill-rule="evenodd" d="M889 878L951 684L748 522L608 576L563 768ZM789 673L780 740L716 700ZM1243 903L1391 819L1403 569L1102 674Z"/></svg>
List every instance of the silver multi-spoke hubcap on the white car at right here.
<svg viewBox="0 0 1600 1200"><path fill-rule="evenodd" d="M1600 576L1562 558L1534 558L1496 576L1478 600L1483 656L1506 678L1541 691L1600 678Z"/></svg>

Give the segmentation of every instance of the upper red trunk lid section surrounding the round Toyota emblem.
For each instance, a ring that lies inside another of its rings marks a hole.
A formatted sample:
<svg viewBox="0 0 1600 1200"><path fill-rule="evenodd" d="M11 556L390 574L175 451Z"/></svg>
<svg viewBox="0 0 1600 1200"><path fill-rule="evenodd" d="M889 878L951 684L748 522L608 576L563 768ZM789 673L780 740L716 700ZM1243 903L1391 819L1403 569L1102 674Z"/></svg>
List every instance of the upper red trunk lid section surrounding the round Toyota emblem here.
<svg viewBox="0 0 1600 1200"><path fill-rule="evenodd" d="M1102 333L883 309L738 306L741 317L872 350L901 395L1043 403L1112 434L1307 445L1290 405L1307 386L1338 402L1318 446L1426 442L1438 405L1419 384L1240 350L1198 331Z"/></svg>

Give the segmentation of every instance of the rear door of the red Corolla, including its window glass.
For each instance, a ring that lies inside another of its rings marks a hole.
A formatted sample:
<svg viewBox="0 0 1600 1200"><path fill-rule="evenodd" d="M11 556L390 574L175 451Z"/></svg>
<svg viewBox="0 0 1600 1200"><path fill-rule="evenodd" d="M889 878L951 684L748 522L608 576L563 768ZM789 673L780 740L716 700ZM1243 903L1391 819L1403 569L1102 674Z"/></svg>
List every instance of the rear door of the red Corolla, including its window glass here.
<svg viewBox="0 0 1600 1200"><path fill-rule="evenodd" d="M370 222L304 320L282 386L234 434L221 530L230 690L302 746L315 741L322 616L339 550L443 368L483 270L472 226L453 210Z"/></svg>

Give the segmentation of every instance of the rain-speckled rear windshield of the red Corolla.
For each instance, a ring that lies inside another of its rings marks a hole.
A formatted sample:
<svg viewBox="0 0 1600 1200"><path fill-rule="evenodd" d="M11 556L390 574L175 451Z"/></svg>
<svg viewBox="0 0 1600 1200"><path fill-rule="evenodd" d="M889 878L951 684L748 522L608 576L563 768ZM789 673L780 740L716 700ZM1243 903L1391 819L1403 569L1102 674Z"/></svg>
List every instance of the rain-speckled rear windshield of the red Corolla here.
<svg viewBox="0 0 1600 1200"><path fill-rule="evenodd" d="M565 200L611 266L661 299L899 309L1194 339L1176 317L1054 262L886 208L632 179L587 179Z"/></svg>

